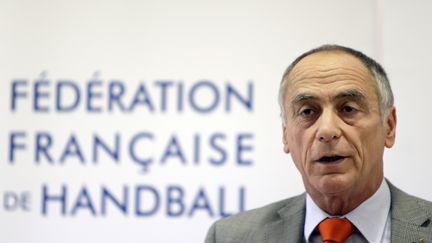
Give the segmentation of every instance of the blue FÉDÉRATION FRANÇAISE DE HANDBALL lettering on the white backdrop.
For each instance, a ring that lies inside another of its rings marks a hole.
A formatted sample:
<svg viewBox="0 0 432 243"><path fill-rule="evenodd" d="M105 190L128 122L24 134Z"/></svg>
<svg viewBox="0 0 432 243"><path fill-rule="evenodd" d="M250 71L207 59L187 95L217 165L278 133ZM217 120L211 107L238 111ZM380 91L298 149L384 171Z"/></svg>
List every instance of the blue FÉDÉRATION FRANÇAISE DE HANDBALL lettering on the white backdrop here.
<svg viewBox="0 0 432 243"><path fill-rule="evenodd" d="M178 168L179 165L209 169L254 165L253 131L210 131L214 129L210 127L200 131L194 130L192 123L185 129L184 125L177 126L176 121L184 116L191 116L193 122L199 123L201 117L212 114L222 114L225 118L236 112L252 114L255 98L252 80L127 82L102 79L101 74L95 72L92 78L80 82L53 79L44 71L35 80L12 79L9 94L12 119L19 119L23 114L29 119L25 129L12 125L3 134L7 136L5 159L9 170L26 167L40 173L40 170L61 170L71 165L86 170L115 165L117 170L134 168L133 171L145 177L154 171ZM128 125L121 122L121 118L115 123L100 122L118 117L128 117L127 121L130 121L131 116L134 120L141 119L135 116L142 115L152 125L146 127L146 122ZM39 117L43 121L48 119L49 125L36 125ZM155 129L164 119L171 119L167 123L172 125L169 130ZM84 127L87 130L81 129ZM115 177L115 174L110 172L108 176ZM17 181L25 179L16 178ZM194 217L203 213L209 217L224 217L245 210L246 204L245 186L210 189L200 186L190 192L190 188L178 182L164 186L133 184L115 188L101 185L95 191L94 186L57 181L42 181L36 191L4 190L1 195L3 210L62 217L97 217L114 212L134 217L158 214ZM211 197L210 191L216 196ZM186 199L186 195L193 196ZM235 201L236 206L230 205L228 209L228 200Z"/></svg>

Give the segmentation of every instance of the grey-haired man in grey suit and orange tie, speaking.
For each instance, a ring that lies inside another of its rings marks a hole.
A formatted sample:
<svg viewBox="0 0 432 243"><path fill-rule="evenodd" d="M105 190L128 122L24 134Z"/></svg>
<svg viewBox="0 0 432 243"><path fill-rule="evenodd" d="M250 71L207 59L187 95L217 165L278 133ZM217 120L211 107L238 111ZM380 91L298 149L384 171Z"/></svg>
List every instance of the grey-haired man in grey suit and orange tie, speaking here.
<svg viewBox="0 0 432 243"><path fill-rule="evenodd" d="M216 222L217 242L432 242L432 203L384 179L396 110L382 67L351 48L298 57L279 91L284 151L306 193Z"/></svg>

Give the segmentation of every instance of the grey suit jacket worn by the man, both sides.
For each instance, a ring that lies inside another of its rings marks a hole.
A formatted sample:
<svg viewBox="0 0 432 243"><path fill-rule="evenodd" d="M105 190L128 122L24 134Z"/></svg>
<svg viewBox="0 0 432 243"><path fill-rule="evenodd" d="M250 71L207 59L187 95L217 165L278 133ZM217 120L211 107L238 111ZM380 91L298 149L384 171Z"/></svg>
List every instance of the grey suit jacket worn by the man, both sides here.
<svg viewBox="0 0 432 243"><path fill-rule="evenodd" d="M432 203L388 183L391 192L391 242L432 242ZM306 194L221 219L205 243L300 243L304 239Z"/></svg>

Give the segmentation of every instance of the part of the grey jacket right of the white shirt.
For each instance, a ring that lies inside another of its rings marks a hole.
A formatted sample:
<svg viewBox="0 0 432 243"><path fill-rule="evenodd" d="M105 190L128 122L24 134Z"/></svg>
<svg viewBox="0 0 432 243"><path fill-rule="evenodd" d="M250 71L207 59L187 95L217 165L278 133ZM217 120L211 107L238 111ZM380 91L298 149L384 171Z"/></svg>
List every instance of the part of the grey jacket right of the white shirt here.
<svg viewBox="0 0 432 243"><path fill-rule="evenodd" d="M388 184L392 198L391 242L432 242L432 212L426 202Z"/></svg>

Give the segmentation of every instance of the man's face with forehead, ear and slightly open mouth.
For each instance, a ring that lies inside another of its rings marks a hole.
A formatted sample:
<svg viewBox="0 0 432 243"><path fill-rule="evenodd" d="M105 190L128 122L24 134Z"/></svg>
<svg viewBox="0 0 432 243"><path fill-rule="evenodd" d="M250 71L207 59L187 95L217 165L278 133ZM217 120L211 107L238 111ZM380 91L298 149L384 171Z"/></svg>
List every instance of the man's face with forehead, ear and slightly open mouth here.
<svg viewBox="0 0 432 243"><path fill-rule="evenodd" d="M382 121L369 70L347 53L322 51L303 58L287 78L284 150L308 193L370 196L383 178L396 117L392 108Z"/></svg>

